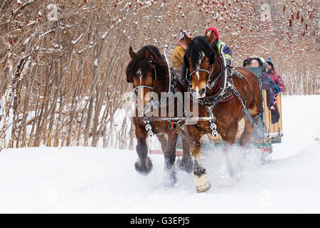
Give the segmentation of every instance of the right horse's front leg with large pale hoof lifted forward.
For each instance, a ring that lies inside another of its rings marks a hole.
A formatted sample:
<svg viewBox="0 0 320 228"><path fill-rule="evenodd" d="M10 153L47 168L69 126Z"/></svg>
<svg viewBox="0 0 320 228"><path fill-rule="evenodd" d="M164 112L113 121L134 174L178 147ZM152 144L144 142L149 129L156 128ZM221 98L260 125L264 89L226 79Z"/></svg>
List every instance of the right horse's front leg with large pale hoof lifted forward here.
<svg viewBox="0 0 320 228"><path fill-rule="evenodd" d="M199 130L195 125L188 125L188 134L193 138L193 141L189 142L189 148L193 156L193 180L196 184L196 192L206 192L210 189L210 182L206 169L201 164L200 139L202 134L199 133Z"/></svg>

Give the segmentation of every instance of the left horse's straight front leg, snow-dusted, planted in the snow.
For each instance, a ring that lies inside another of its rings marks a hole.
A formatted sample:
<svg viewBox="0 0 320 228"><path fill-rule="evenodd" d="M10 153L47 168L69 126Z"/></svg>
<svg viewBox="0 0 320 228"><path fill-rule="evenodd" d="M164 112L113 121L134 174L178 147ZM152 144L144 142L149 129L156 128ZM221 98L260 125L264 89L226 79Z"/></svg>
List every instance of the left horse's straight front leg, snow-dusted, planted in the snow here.
<svg viewBox="0 0 320 228"><path fill-rule="evenodd" d="M166 150L164 152L164 168L166 170L166 177L168 178L167 185L174 186L176 184L176 167L174 161L176 160L176 140L178 135L173 132L168 133L168 142L166 143Z"/></svg>

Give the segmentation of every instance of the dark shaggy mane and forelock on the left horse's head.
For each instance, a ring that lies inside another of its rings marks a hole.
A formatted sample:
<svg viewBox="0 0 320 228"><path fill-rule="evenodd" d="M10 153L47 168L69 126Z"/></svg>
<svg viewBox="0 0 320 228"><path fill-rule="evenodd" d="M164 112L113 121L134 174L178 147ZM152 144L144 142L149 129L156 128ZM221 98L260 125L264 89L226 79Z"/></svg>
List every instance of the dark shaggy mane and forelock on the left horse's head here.
<svg viewBox="0 0 320 228"><path fill-rule="evenodd" d="M152 56L153 61L150 63L146 56L144 55L144 51L146 48L150 51L150 56ZM146 73L153 71L154 66L156 67L156 75L159 79L164 78L168 75L168 66L163 56L156 46L144 46L142 47L134 56L132 61L127 66L127 77L133 78L137 76L138 69L141 69L142 74L145 75Z"/></svg>

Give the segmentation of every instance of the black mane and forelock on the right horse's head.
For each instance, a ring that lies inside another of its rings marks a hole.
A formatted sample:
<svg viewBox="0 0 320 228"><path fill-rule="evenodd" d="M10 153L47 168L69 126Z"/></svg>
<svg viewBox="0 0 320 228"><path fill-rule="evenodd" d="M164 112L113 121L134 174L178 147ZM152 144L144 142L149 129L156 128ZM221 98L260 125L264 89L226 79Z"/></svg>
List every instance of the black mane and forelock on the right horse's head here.
<svg viewBox="0 0 320 228"><path fill-rule="evenodd" d="M216 44L215 44L216 46ZM212 60L214 56L212 56L213 51L217 50L218 47L214 48L213 45L208 43L206 36L196 36L192 39L191 43L188 45L188 49L183 56L183 73L186 75L186 71L188 70L190 64L193 68L196 68L201 58L203 58L203 53ZM191 63L189 63L189 59Z"/></svg>

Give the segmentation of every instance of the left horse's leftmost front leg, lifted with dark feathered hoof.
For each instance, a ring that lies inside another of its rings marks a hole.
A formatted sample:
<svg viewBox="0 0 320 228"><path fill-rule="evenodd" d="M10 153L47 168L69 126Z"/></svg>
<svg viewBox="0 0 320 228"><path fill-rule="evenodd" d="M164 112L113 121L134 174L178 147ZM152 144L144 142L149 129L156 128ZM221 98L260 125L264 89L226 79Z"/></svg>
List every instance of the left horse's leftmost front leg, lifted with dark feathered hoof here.
<svg viewBox="0 0 320 228"><path fill-rule="evenodd" d="M136 137L137 137L137 162L134 163L134 167L137 172L142 175L148 175L152 170L152 162L148 156L148 147L146 145L146 131L144 128L136 126Z"/></svg>

